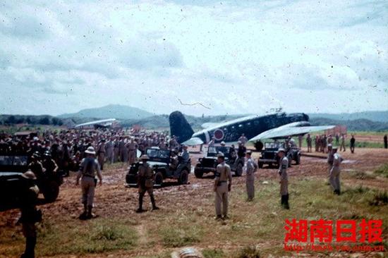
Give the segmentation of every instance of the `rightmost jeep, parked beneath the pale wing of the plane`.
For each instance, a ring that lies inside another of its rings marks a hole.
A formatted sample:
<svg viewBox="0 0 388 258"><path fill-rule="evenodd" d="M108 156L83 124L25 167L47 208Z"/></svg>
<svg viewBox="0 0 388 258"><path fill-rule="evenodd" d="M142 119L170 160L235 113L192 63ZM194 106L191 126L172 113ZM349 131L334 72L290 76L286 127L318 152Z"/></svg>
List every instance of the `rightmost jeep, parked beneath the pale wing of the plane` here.
<svg viewBox="0 0 388 258"><path fill-rule="evenodd" d="M262 168L264 164L267 164L269 167L276 166L279 167L279 155L277 152L280 148L286 150L286 157L289 159L289 166L291 166L292 161L298 165L301 163L301 149L298 147L287 147L285 142L265 142L264 149L261 152L261 156L257 165L259 168Z"/></svg>

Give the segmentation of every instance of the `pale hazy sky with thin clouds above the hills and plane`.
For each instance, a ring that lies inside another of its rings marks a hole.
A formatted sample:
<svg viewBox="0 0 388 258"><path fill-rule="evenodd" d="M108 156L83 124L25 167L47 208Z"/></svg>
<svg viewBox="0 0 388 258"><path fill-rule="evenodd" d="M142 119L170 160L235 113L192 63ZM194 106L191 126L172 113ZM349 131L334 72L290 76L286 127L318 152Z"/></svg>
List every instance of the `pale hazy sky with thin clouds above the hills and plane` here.
<svg viewBox="0 0 388 258"><path fill-rule="evenodd" d="M386 0L0 0L0 113L387 110L387 51Z"/></svg>

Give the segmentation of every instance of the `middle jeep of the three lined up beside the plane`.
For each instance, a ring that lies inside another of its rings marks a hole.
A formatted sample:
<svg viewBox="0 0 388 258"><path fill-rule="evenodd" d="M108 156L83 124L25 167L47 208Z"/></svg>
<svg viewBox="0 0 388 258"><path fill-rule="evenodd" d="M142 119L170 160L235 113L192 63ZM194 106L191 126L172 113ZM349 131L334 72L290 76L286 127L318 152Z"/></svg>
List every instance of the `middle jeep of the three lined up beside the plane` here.
<svg viewBox="0 0 388 258"><path fill-rule="evenodd" d="M195 165L194 174L196 178L202 178L204 173L215 173L217 168L217 154L222 152L225 156L225 162L231 167L235 176L243 174L244 159L238 159L236 150L231 147L212 146L207 149L205 157L198 159Z"/></svg>

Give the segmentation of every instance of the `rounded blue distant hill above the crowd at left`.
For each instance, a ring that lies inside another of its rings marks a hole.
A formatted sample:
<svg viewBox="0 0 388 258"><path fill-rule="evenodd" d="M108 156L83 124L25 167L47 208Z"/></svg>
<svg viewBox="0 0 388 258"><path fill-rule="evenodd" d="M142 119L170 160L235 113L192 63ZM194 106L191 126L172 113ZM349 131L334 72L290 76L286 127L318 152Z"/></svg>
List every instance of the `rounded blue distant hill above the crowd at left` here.
<svg viewBox="0 0 388 258"><path fill-rule="evenodd" d="M108 105L95 109L83 109L77 113L64 113L59 118L116 118L121 120L141 119L154 116L154 114L143 109L132 106Z"/></svg>

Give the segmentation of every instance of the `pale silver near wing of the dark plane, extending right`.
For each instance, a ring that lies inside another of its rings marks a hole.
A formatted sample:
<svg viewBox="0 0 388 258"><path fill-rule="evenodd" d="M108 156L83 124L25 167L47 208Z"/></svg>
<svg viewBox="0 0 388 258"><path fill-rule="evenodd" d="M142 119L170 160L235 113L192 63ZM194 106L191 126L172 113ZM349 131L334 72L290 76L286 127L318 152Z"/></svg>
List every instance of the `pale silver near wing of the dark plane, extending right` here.
<svg viewBox="0 0 388 258"><path fill-rule="evenodd" d="M250 139L250 142L254 142L262 139L270 139L270 138L279 138L279 137L287 137L291 135L304 135L306 133L312 133L317 131L323 131L334 128L335 125L320 125L320 126L281 126L279 128L274 128L271 130L267 130L260 135L257 135Z"/></svg>

